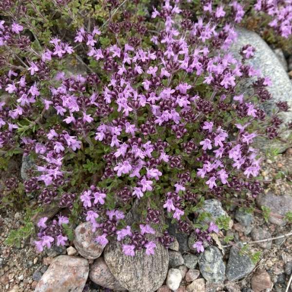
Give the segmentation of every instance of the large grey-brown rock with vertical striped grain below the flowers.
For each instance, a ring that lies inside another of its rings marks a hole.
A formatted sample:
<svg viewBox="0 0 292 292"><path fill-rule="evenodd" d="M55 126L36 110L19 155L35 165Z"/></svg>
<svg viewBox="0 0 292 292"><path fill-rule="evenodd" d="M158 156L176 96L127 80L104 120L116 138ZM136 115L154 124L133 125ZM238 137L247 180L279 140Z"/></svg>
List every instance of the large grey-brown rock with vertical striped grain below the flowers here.
<svg viewBox="0 0 292 292"><path fill-rule="evenodd" d="M104 258L111 274L129 292L154 292L162 286L168 268L167 250L158 242L156 246L152 256L147 256L142 249L132 257L124 254L120 243L111 241L105 248Z"/></svg>

